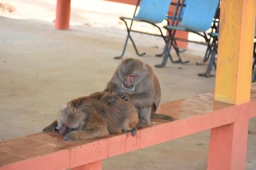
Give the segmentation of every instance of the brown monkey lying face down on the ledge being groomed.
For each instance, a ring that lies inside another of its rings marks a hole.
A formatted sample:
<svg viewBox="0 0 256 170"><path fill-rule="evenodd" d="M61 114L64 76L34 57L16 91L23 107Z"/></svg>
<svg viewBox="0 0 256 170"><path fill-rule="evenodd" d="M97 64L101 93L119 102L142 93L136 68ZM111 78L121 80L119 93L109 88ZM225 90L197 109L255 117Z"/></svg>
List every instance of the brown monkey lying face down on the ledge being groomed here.
<svg viewBox="0 0 256 170"><path fill-rule="evenodd" d="M59 131L68 141L102 138L122 131L131 131L134 136L138 122L138 113L131 103L98 92L67 103L58 119L43 131Z"/></svg>

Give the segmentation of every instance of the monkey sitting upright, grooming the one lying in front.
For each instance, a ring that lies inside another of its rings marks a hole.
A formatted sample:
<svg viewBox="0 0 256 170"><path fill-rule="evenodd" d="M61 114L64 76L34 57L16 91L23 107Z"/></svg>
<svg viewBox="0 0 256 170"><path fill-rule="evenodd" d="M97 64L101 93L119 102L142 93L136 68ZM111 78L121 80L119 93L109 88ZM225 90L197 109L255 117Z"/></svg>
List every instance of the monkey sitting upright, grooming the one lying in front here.
<svg viewBox="0 0 256 170"><path fill-rule="evenodd" d="M117 94L134 104L139 116L138 127L151 125L150 118L173 120L156 114L161 99L161 88L152 67L138 59L125 59L118 65L104 92Z"/></svg>

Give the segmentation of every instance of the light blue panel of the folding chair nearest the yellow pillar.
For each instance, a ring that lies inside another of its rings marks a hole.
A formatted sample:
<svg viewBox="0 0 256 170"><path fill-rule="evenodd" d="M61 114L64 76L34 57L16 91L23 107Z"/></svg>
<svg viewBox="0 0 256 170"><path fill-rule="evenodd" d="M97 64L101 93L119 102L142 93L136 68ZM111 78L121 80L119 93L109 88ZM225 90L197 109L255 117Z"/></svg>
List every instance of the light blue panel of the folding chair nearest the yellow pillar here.
<svg viewBox="0 0 256 170"><path fill-rule="evenodd" d="M218 8L219 0L188 0L180 27L203 32L211 27L212 19Z"/></svg>

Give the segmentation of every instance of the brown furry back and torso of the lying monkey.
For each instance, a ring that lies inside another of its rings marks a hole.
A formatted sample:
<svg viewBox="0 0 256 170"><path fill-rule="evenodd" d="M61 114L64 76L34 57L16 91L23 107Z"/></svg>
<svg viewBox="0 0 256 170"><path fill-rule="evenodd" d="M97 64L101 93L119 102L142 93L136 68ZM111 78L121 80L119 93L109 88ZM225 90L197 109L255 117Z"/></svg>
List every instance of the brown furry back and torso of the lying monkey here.
<svg viewBox="0 0 256 170"><path fill-rule="evenodd" d="M76 109L86 114L83 129L100 124L106 125L109 133L121 133L122 129L126 130L131 126L134 128L138 124L138 113L133 104L113 94L97 93L73 100L75 101Z"/></svg>

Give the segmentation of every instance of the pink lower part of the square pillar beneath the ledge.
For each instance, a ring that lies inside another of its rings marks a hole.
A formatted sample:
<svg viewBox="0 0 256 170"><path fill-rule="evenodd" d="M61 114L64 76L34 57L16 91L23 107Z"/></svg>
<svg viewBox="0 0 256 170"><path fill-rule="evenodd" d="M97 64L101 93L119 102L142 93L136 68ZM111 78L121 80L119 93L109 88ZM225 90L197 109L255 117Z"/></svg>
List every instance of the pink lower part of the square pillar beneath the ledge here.
<svg viewBox="0 0 256 170"><path fill-rule="evenodd" d="M207 169L245 169L247 138L248 116L241 110L234 123L211 130Z"/></svg>

